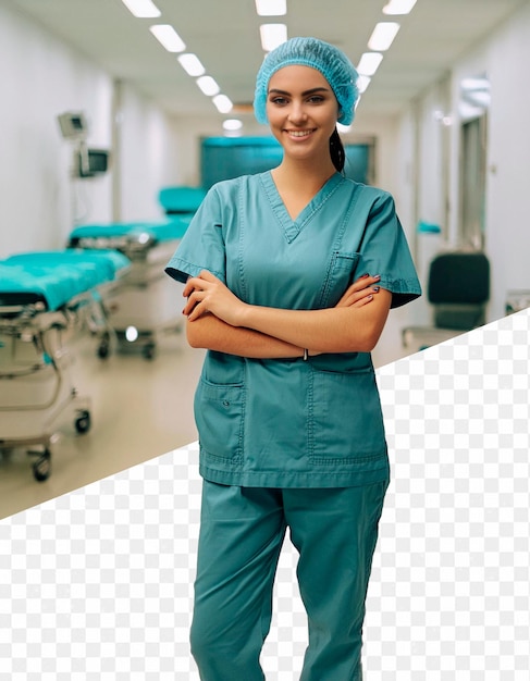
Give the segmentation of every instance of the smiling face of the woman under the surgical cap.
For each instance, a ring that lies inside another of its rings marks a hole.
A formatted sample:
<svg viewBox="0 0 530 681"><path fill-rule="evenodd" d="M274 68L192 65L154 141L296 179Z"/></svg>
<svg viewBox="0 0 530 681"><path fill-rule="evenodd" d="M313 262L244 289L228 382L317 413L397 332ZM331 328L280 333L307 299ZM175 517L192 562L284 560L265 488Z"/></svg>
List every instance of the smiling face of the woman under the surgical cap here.
<svg viewBox="0 0 530 681"><path fill-rule="evenodd" d="M338 103L320 71L301 65L276 71L269 82L267 117L287 156L330 159Z"/></svg>

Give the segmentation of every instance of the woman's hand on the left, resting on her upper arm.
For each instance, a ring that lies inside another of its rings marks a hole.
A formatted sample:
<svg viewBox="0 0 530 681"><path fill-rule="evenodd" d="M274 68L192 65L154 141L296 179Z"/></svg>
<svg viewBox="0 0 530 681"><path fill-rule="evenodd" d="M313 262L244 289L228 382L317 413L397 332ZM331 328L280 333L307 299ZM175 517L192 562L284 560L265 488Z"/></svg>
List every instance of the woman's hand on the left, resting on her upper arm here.
<svg viewBox="0 0 530 681"><path fill-rule="evenodd" d="M211 312L232 326L239 325L245 304L211 272L202 270L198 276L189 277L183 296L187 297L183 314L187 315L188 321L193 322Z"/></svg>

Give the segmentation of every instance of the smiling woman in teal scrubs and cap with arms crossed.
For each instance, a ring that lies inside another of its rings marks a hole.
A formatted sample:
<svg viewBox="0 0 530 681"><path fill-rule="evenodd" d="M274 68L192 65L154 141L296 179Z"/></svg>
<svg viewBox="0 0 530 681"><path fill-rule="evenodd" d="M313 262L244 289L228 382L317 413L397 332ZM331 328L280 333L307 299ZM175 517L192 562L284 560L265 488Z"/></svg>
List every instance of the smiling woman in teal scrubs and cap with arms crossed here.
<svg viewBox="0 0 530 681"><path fill-rule="evenodd" d="M286 528L308 614L301 681L359 681L371 560L390 468L370 350L418 295L384 191L341 174L336 123L357 73L294 38L257 78L283 147L271 172L219 183L168 273L208 348L195 398L204 478L192 652L204 681L258 681Z"/></svg>

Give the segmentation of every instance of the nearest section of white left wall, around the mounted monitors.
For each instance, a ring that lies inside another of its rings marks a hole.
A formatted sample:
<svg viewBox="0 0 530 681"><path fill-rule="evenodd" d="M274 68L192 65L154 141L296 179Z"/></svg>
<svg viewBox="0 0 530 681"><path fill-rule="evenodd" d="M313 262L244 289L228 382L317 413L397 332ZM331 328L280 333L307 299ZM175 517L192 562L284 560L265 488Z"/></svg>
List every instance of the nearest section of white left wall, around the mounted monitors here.
<svg viewBox="0 0 530 681"><path fill-rule="evenodd" d="M111 82L23 16L0 7L0 256L63 246L71 224L72 153L57 115L84 110L96 146L110 141ZM106 215L110 181L87 186L77 205Z"/></svg>

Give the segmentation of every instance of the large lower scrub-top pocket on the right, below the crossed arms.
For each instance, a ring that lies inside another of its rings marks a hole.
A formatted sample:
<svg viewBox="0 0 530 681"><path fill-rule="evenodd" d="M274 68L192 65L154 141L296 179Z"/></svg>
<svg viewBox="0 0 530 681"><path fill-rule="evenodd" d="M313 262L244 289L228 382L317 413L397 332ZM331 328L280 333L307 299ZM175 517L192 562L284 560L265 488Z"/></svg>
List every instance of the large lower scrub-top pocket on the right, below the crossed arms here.
<svg viewBox="0 0 530 681"><path fill-rule="evenodd" d="M386 456L372 370L312 372L309 451L317 465L369 465Z"/></svg>

